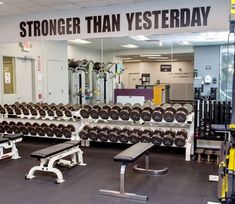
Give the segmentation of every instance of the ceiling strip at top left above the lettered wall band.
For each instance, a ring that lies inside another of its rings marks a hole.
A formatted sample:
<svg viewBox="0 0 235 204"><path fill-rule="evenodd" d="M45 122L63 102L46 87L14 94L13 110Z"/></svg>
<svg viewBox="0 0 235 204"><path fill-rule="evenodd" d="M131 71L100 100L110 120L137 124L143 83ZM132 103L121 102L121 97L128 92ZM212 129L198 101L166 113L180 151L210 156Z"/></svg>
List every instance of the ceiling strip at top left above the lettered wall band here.
<svg viewBox="0 0 235 204"><path fill-rule="evenodd" d="M0 0L0 16L65 11L71 9L151 2L154 0Z"/></svg>

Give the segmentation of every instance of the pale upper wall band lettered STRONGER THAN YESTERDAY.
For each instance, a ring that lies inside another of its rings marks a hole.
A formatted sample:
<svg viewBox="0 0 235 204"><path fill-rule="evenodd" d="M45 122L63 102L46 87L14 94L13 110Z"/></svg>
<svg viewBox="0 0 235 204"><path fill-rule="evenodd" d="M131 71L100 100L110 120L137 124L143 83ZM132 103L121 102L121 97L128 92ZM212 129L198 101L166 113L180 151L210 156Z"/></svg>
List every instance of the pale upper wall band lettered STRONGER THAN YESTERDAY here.
<svg viewBox="0 0 235 204"><path fill-rule="evenodd" d="M3 28L0 43L224 31L229 28L229 11L228 0L159 0L3 16L0 19L0 28Z"/></svg>

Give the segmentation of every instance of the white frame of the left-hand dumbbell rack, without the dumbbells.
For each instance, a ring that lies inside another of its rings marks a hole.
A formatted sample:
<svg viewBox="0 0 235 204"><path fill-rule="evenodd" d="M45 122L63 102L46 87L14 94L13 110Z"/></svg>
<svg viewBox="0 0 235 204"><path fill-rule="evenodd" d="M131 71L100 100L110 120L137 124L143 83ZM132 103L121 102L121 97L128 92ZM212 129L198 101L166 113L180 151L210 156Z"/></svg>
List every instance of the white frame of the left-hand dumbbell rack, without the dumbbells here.
<svg viewBox="0 0 235 204"><path fill-rule="evenodd" d="M79 123L79 111L73 111L72 112L72 117L50 117L48 115L45 115L45 117L39 117L39 116L32 116L31 114L29 115L15 115L15 114L0 114L0 121L6 121L6 122L22 122L23 124L30 122L30 123L38 123L41 125L42 123L45 124L63 124L65 126L67 125L73 125L75 127L75 131L72 132L71 138L66 138L64 135L62 137L57 137L55 134L53 136L48 136L45 134L44 136L40 136L38 133L36 135L30 135L30 134L24 134L24 137L35 137L35 138L51 138L51 139L64 139L64 140L71 140L71 139L79 139L78 138L78 130L80 128L80 123ZM7 134L6 132L3 134Z"/></svg>

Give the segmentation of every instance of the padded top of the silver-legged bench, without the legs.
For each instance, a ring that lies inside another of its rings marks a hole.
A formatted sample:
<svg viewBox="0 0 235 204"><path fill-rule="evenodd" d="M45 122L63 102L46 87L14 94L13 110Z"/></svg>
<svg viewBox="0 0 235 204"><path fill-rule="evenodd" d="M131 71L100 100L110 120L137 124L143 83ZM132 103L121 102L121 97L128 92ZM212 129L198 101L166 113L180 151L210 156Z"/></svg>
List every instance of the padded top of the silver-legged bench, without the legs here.
<svg viewBox="0 0 235 204"><path fill-rule="evenodd" d="M147 150L154 146L152 143L137 143L128 149L117 154L113 160L117 162L134 162L137 158L142 156Z"/></svg>

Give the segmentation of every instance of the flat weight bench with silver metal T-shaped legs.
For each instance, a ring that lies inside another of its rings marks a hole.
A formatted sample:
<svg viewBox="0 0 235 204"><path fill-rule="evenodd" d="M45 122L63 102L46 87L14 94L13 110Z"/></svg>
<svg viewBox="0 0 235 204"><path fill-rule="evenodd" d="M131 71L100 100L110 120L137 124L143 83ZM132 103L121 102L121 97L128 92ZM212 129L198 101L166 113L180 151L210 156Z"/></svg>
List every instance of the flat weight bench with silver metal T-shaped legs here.
<svg viewBox="0 0 235 204"><path fill-rule="evenodd" d="M140 201L147 201L148 196L137 195L134 193L126 193L125 192L125 170L127 164L134 162L140 156L145 154L145 168L140 168L138 165L135 165L133 169L140 173L150 174L150 175L162 175L166 174L168 168L164 168L161 170L152 170L149 168L149 150L154 146L152 143L137 143L132 145L128 149L117 154L113 160L116 162L121 162L121 170L120 170L120 191L112 191L112 190L104 190L100 189L99 193L101 195L114 196L120 198L129 198Z"/></svg>

